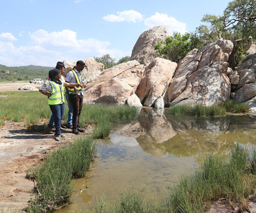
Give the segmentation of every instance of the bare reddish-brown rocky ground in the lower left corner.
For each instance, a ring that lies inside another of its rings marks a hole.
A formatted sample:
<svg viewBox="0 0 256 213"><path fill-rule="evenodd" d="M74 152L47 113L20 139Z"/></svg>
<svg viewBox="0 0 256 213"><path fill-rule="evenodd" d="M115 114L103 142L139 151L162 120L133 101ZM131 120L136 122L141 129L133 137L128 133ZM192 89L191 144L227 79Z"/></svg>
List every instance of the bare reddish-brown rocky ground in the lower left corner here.
<svg viewBox="0 0 256 213"><path fill-rule="evenodd" d="M74 135L66 129L62 131L66 137L55 141L53 134L28 132L23 123L6 122L0 127L0 212L22 209L31 199L34 182L25 178L29 168L40 164L50 150L71 143L91 130L89 127L85 133Z"/></svg>

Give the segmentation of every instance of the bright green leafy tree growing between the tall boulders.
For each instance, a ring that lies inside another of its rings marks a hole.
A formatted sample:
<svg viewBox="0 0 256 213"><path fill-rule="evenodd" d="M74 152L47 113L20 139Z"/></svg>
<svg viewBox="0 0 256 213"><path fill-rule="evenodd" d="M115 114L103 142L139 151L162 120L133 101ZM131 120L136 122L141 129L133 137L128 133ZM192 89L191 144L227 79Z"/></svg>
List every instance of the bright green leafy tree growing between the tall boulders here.
<svg viewBox="0 0 256 213"><path fill-rule="evenodd" d="M186 32L181 35L179 32L174 32L172 36L166 38L165 41L160 41L154 46L163 58L179 63L182 58L198 44L199 39L193 37L193 42L190 40L191 35Z"/></svg>

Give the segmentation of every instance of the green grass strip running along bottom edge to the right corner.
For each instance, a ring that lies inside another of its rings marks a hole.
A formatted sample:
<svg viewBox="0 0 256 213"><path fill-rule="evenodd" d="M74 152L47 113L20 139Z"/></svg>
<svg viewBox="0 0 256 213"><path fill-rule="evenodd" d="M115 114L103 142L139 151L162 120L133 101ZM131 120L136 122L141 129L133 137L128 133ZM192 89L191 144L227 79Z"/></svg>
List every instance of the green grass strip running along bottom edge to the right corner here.
<svg viewBox="0 0 256 213"><path fill-rule="evenodd" d="M93 213L205 213L212 201L225 198L240 210L245 199L256 195L256 150L236 144L228 156L208 155L201 167L191 175L181 176L168 188L165 201L146 201L138 190L128 189L113 204L106 198L84 212Z"/></svg>

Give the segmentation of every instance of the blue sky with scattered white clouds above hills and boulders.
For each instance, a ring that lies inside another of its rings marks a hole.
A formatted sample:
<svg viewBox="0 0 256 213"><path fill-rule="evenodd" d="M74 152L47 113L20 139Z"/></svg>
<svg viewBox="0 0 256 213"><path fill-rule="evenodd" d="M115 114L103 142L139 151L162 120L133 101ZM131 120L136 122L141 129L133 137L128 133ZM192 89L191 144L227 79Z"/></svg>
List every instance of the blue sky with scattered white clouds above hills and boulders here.
<svg viewBox="0 0 256 213"><path fill-rule="evenodd" d="M109 54L119 60L146 30L184 34L230 0L0 0L0 64L55 66Z"/></svg>

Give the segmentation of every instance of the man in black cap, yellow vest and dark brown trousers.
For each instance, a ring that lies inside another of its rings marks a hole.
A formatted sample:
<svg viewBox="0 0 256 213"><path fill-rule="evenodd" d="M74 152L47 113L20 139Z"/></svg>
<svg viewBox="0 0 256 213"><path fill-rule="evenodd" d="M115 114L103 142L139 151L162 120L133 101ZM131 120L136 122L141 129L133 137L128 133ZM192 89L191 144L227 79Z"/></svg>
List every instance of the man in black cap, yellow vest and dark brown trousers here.
<svg viewBox="0 0 256 213"><path fill-rule="evenodd" d="M87 67L85 63L82 60L78 60L76 62L76 67L67 73L66 82L81 83L85 87L86 84L84 83L84 79L81 74L81 71L84 69L84 67ZM84 132L84 130L80 128L80 115L84 100L83 87L79 86L77 88L69 88L68 98L73 108L72 132L77 135L79 132Z"/></svg>

